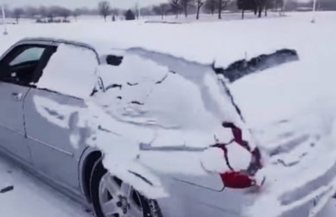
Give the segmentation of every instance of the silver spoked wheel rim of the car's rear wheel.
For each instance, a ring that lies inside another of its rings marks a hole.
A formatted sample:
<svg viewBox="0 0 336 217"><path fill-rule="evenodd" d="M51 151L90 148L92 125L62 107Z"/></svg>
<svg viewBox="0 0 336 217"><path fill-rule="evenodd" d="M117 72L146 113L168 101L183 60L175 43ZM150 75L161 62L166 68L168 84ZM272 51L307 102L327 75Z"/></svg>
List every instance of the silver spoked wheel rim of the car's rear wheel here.
<svg viewBox="0 0 336 217"><path fill-rule="evenodd" d="M108 172L99 183L99 203L105 217L143 217L139 193Z"/></svg>

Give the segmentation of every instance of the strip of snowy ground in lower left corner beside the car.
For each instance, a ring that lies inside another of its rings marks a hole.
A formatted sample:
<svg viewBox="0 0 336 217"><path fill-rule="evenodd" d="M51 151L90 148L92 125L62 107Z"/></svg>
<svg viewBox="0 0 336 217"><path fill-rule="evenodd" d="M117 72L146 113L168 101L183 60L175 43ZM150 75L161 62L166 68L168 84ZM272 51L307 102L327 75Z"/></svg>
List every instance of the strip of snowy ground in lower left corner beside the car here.
<svg viewBox="0 0 336 217"><path fill-rule="evenodd" d="M41 180L30 175L17 164L0 155L0 216L92 216L77 202L59 193Z"/></svg>

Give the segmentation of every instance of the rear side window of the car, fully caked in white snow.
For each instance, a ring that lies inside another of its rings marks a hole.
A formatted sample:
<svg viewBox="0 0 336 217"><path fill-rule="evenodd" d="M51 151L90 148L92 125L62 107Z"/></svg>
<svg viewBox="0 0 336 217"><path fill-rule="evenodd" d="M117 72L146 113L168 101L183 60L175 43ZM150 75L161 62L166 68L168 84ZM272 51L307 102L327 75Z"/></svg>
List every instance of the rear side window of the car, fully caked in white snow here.
<svg viewBox="0 0 336 217"><path fill-rule="evenodd" d="M60 44L43 70L37 87L77 98L89 97L97 83L97 66L94 51Z"/></svg>

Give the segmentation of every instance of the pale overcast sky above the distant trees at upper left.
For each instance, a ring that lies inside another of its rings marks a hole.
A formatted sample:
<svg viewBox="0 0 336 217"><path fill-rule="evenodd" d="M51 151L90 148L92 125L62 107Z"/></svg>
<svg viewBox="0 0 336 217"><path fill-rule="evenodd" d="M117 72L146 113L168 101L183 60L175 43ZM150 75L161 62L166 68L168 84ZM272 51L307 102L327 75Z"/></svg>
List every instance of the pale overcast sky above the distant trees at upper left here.
<svg viewBox="0 0 336 217"><path fill-rule="evenodd" d="M22 6L64 6L67 8L96 8L98 2L101 0L0 0L1 3L7 4L10 8L22 7ZM107 0L111 3L113 8L130 8L134 7L136 2L139 3L140 7L148 6L153 4L158 4L161 2L167 2L168 0Z"/></svg>

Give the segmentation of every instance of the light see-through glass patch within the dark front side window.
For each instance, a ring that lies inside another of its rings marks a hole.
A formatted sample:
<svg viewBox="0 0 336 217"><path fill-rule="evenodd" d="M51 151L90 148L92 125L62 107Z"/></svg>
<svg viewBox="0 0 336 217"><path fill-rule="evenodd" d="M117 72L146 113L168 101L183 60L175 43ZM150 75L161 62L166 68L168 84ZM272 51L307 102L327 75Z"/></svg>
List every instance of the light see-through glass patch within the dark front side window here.
<svg viewBox="0 0 336 217"><path fill-rule="evenodd" d="M43 52L46 48L33 47L24 50L19 56L17 56L11 63L10 66L19 65L27 62L38 61L42 57Z"/></svg>

